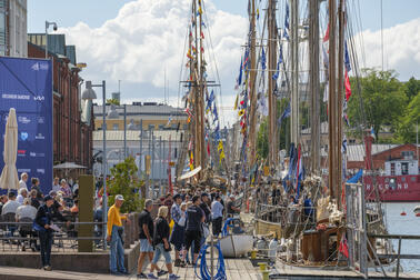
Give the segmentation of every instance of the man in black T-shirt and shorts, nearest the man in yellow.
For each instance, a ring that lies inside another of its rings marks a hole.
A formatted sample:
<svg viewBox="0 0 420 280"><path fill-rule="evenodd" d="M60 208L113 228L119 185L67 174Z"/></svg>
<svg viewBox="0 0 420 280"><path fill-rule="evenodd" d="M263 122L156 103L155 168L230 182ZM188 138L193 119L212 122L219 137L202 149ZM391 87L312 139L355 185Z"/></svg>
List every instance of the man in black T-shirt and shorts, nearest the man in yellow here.
<svg viewBox="0 0 420 280"><path fill-rule="evenodd" d="M148 278L143 273L143 262L146 257L149 257L150 262L153 260L153 219L151 218L150 211L153 208L153 201L151 199L147 199L144 201L144 210L140 213L139 217L139 229L140 229L140 256L138 260L138 268L137 268L137 278ZM167 271L160 270L158 271L158 276L166 274Z"/></svg>

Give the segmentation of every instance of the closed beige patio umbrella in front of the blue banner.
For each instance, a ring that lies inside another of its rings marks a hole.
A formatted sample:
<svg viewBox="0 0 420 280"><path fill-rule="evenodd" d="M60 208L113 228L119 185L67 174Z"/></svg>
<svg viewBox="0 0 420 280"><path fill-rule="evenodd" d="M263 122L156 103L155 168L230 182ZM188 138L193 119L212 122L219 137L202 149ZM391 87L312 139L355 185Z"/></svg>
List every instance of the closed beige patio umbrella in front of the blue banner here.
<svg viewBox="0 0 420 280"><path fill-rule="evenodd" d="M14 189L19 188L18 170L16 169L16 158L18 153L18 121L16 119L14 108L10 108L8 121L6 123L4 134L4 168L0 177L0 188Z"/></svg>

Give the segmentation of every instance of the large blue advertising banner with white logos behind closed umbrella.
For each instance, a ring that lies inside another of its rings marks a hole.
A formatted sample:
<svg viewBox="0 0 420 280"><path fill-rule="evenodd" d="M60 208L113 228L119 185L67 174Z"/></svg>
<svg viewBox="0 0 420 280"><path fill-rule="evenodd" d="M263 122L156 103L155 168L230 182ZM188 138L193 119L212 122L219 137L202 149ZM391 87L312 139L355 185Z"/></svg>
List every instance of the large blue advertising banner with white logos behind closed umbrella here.
<svg viewBox="0 0 420 280"><path fill-rule="evenodd" d="M0 170L4 167L4 130L9 109L18 119L18 174L52 187L52 69L50 60L0 57Z"/></svg>

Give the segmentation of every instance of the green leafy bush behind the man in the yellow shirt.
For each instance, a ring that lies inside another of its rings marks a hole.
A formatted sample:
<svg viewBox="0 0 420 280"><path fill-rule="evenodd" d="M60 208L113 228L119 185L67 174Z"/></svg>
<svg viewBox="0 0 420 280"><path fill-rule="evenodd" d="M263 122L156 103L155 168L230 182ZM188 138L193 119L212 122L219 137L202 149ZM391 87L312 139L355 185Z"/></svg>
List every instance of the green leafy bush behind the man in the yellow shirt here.
<svg viewBox="0 0 420 280"><path fill-rule="evenodd" d="M138 190L141 189L143 182L137 178L137 170L132 157L111 168L111 178L113 179L109 181L108 206L114 203L117 194L122 194L124 203L121 207L121 212L136 212L142 208L143 199L140 199Z"/></svg>

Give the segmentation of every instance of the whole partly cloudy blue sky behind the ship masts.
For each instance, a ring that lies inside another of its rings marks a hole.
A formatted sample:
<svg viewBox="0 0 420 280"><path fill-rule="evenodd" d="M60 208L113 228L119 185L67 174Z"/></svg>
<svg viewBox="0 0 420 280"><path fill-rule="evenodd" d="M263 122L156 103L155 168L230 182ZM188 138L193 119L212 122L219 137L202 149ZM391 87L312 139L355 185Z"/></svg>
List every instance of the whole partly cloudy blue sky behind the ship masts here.
<svg viewBox="0 0 420 280"><path fill-rule="evenodd" d="M362 67L379 67L380 0L347 1L352 10L360 7ZM401 80L411 76L420 79L420 0L382 1L386 69L397 70ZM163 69L167 69L171 104L177 106L177 100L180 104L179 71L189 13L188 4L180 7L181 2L189 0L28 0L28 31L43 32L46 20L56 21L62 28L59 31L67 34L67 42L76 44L79 62L88 63L82 78L106 79L108 94L116 91L118 80L122 80L121 93L126 102L162 101ZM211 2L218 11L224 12L212 11L216 27L211 27L211 37L221 72L221 101L228 107L236 97L234 80L248 30L248 0ZM124 6L127 3L130 7ZM171 13L166 13L167 10ZM142 21L143 18L148 20Z"/></svg>

